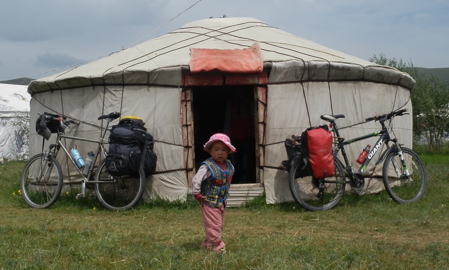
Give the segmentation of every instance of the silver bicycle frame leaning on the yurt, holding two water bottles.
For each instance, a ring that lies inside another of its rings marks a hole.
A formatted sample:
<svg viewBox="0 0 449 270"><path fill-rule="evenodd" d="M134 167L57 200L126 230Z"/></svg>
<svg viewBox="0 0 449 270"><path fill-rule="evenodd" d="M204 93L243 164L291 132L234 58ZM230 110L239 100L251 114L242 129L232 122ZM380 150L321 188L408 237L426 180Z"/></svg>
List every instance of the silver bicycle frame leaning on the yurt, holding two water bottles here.
<svg viewBox="0 0 449 270"><path fill-rule="evenodd" d="M71 139L71 140L77 140L77 141L84 141L84 142L92 142L92 143L97 143L97 150L95 151L94 154L94 158L92 161L92 164L95 164L95 162L97 161L98 155L100 154L100 152L103 154L103 158L106 158L107 152L105 149L105 142L107 142L107 140L104 139L106 132L108 131L108 126L109 126L109 122L111 121L107 121L106 122L106 126L104 128L104 130L101 133L101 137L99 140L96 139L88 139L88 138L83 138L83 137L76 137L76 136L68 136L68 135L64 135L63 133L57 133L58 136L56 138L56 144L51 144L48 148L48 151L46 151L45 153L45 159L48 159L48 155L51 153L52 156L54 156L56 158L59 149L62 149L62 151L65 153L65 155L68 157L68 159L70 160L71 164L76 168L76 170L78 171L78 173L81 175L82 177L82 182L81 182L81 193L77 195L77 199L79 198L84 198L85 196L85 191L86 191L86 183L89 182L89 184L96 184L96 183L100 183L99 181L93 181L90 180L91 176L93 176L92 172L93 172L93 166L89 169L87 175L85 176L82 172L82 170L77 166L77 164L75 163L75 161L73 160L73 158L71 158L70 153L68 152L67 148L65 148L64 143L61 142L61 139ZM51 149L54 148L54 151L51 151ZM40 175L39 175L40 176ZM101 183L107 183L108 181L102 181ZM112 182L112 181L111 181Z"/></svg>

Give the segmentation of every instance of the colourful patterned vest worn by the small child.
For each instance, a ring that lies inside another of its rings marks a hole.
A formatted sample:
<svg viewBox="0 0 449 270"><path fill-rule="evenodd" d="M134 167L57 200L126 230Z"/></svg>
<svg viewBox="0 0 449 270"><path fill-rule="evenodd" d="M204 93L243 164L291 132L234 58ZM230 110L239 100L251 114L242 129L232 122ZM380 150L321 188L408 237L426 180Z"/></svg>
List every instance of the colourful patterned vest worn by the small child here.
<svg viewBox="0 0 449 270"><path fill-rule="evenodd" d="M218 167L211 157L202 163L212 173L212 176L209 176L206 181L201 183L201 194L206 197L204 204L208 206L219 208L226 202L229 196L229 186L234 175L234 166L228 159L224 163L226 163L226 167L228 168L226 171Z"/></svg>

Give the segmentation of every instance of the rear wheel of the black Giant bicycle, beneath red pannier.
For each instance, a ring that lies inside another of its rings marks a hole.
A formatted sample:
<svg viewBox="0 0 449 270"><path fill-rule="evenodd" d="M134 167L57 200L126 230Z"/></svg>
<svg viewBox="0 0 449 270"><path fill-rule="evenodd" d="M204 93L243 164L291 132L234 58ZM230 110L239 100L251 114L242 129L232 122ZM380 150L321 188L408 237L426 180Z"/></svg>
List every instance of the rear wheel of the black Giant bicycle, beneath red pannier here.
<svg viewBox="0 0 449 270"><path fill-rule="evenodd" d="M289 186L293 199L310 211L324 211L334 207L345 191L345 172L340 160L334 159L335 174L316 179L304 176L304 161L298 158L290 170Z"/></svg>

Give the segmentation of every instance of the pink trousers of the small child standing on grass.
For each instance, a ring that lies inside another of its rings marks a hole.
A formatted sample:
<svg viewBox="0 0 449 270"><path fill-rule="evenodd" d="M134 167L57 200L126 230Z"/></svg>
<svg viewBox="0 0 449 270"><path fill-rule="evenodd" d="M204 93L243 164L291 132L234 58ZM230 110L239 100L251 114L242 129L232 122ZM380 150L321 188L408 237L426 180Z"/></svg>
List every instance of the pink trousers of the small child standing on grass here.
<svg viewBox="0 0 449 270"><path fill-rule="evenodd" d="M224 247L221 241L221 231L224 224L224 206L220 208L203 205L201 207L204 230L206 235L201 243L202 248L213 248L214 251Z"/></svg>

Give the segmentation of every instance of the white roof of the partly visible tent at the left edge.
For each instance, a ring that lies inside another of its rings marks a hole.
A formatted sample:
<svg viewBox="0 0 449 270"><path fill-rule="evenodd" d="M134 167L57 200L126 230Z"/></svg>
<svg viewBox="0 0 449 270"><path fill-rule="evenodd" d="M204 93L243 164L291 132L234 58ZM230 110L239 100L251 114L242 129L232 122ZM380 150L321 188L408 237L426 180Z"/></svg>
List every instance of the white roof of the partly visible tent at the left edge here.
<svg viewBox="0 0 449 270"><path fill-rule="evenodd" d="M29 116L30 100L26 85L0 83L0 117Z"/></svg>

